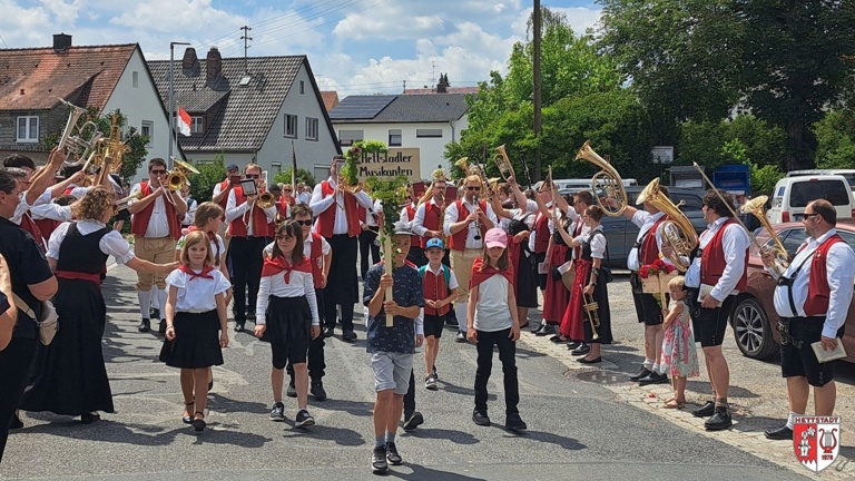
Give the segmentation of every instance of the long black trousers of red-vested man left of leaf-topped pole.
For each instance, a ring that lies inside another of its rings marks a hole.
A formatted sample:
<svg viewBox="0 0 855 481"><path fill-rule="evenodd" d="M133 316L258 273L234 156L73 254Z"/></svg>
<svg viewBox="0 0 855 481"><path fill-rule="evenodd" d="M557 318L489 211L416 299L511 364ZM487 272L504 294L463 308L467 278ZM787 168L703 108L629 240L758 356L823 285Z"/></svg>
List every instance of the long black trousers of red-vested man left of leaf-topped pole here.
<svg viewBox="0 0 855 481"><path fill-rule="evenodd" d="M333 251L330 276L324 295L324 318L326 327L335 327L335 306L342 306L342 330L353 331L353 305L358 302L356 286L356 237L347 234L334 235L326 239Z"/></svg>

